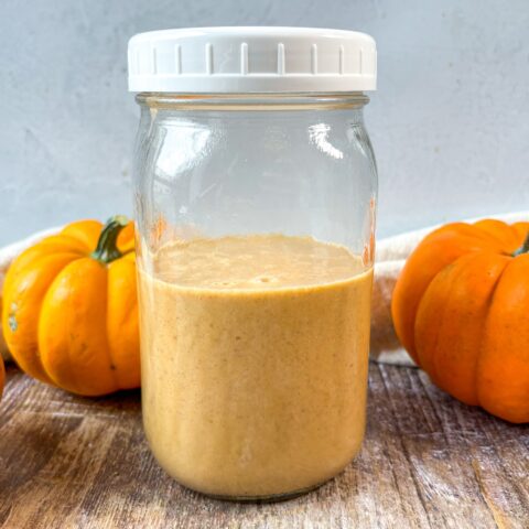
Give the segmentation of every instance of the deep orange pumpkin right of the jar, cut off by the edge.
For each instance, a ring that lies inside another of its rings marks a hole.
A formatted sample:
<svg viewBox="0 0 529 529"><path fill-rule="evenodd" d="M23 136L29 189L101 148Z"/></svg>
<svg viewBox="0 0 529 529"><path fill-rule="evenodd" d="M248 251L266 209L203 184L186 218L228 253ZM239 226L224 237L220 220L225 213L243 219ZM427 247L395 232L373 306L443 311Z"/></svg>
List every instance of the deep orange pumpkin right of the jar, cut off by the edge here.
<svg viewBox="0 0 529 529"><path fill-rule="evenodd" d="M529 223L455 223L408 259L391 313L402 345L461 401L529 422Z"/></svg>

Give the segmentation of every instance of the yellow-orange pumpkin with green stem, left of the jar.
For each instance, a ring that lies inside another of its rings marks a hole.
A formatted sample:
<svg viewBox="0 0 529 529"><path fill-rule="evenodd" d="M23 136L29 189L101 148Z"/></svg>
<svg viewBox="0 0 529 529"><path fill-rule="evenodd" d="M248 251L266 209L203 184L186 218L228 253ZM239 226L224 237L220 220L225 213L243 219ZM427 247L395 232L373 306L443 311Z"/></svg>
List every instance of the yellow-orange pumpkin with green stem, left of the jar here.
<svg viewBox="0 0 529 529"><path fill-rule="evenodd" d="M21 369L84 396L140 386L133 246L122 216L80 220L13 261L2 326Z"/></svg>

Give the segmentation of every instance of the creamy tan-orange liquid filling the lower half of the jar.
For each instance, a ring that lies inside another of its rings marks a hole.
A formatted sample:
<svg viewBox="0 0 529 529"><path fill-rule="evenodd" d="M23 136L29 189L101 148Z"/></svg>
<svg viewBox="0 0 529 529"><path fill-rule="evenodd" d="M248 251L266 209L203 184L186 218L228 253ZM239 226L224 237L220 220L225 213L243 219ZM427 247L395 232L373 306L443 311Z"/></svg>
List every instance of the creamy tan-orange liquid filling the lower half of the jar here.
<svg viewBox="0 0 529 529"><path fill-rule="evenodd" d="M143 422L161 465L239 498L342 471L364 436L371 279L309 237L164 246L139 276Z"/></svg>

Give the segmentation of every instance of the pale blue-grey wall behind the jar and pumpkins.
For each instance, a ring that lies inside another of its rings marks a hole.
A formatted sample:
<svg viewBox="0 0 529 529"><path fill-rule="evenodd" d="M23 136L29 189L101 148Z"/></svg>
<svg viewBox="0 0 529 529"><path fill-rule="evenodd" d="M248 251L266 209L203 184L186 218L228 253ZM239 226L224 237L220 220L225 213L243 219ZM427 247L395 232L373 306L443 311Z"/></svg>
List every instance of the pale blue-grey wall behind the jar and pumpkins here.
<svg viewBox="0 0 529 529"><path fill-rule="evenodd" d="M379 236L527 207L527 0L1 0L0 244L130 213L128 37L236 24L375 36Z"/></svg>

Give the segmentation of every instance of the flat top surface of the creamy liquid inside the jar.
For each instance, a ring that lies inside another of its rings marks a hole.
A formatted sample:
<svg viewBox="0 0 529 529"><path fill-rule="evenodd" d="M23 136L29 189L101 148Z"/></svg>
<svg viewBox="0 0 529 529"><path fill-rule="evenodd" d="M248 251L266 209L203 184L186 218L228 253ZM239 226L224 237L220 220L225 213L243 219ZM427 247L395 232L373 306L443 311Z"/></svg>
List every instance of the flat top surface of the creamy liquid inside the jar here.
<svg viewBox="0 0 529 529"><path fill-rule="evenodd" d="M219 290L310 287L347 280L364 268L345 247L283 235L174 242L154 260L162 281Z"/></svg>

